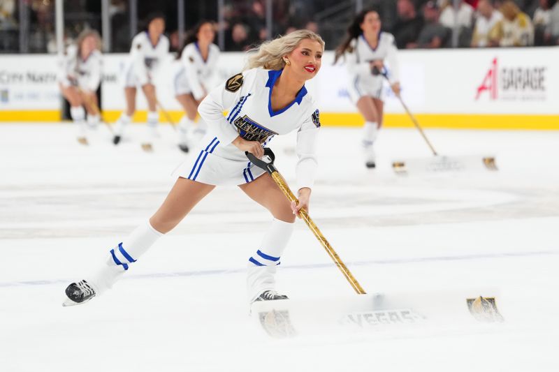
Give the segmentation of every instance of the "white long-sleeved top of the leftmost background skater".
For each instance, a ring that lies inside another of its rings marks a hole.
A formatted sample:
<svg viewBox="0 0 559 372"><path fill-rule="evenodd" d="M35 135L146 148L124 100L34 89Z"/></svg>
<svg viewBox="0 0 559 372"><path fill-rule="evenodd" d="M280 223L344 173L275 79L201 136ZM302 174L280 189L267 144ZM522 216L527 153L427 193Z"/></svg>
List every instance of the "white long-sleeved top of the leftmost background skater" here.
<svg viewBox="0 0 559 372"><path fill-rule="evenodd" d="M101 82L101 66L103 56L94 50L87 59L78 57L78 46L70 45L60 61L58 81L64 87L78 84L82 90L96 91Z"/></svg>

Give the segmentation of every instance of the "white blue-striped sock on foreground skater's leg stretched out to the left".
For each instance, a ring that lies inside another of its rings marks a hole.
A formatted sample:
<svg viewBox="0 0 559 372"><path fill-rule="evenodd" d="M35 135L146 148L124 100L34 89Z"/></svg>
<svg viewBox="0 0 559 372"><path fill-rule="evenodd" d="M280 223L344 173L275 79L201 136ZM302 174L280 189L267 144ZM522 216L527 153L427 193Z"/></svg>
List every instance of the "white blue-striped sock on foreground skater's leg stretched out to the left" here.
<svg viewBox="0 0 559 372"><path fill-rule="evenodd" d="M101 293L111 288L130 265L133 265L163 235L152 227L150 221L146 221L133 230L126 239L110 249L106 265L103 265L101 271L92 278L96 291Z"/></svg>

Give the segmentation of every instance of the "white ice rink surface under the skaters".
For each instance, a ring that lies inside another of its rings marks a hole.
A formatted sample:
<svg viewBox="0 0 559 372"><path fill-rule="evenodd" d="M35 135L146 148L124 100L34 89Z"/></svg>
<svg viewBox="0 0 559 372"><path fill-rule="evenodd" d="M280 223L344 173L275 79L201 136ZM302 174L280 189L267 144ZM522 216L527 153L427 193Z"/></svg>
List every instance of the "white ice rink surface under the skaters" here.
<svg viewBox="0 0 559 372"><path fill-rule="evenodd" d="M101 127L84 147L70 124L0 126L0 371L559 371L559 133L428 130L440 154L493 155L499 171L402 177L391 161L430 156L416 131L382 131L366 170L358 129L323 128L311 215L363 288L435 304L496 288L505 321L275 339L249 317L244 274L270 216L235 187L213 191L112 291L61 306L173 184L184 154L171 129L152 154L144 130L114 147ZM291 184L293 140L271 144ZM310 306L353 296L302 221L278 289Z"/></svg>

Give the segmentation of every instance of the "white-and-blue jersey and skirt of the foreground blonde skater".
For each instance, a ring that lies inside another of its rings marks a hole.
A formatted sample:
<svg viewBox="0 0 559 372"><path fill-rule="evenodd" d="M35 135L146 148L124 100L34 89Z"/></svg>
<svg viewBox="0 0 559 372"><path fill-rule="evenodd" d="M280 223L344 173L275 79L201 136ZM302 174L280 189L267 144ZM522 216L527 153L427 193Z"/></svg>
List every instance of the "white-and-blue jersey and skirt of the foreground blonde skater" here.
<svg viewBox="0 0 559 372"><path fill-rule="evenodd" d="M273 111L270 98L281 74L282 70L252 68L212 89L198 107L208 123L208 134L194 156L182 163L175 175L212 185L249 183L264 171L250 163L245 153L231 142L240 135L267 147L275 135L298 130L297 189L312 188L317 170L319 110L303 86L291 104ZM226 117L224 111L228 112Z"/></svg>

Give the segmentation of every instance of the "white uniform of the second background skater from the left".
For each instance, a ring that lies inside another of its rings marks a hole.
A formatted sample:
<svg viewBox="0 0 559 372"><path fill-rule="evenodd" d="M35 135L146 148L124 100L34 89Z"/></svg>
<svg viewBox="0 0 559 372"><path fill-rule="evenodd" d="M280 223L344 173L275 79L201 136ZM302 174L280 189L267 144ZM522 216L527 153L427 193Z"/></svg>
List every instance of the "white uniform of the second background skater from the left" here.
<svg viewBox="0 0 559 372"><path fill-rule="evenodd" d="M161 62L168 58L169 39L159 36L153 45L147 31L140 32L132 39L130 56L124 68L124 86L136 87L152 83Z"/></svg>

